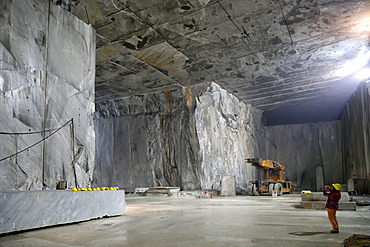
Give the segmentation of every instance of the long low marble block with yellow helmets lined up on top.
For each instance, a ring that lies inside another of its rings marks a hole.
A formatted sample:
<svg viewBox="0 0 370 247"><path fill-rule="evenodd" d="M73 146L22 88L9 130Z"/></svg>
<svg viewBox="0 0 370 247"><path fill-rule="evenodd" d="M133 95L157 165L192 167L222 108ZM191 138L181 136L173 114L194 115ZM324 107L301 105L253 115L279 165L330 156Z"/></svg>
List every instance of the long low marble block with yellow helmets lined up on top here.
<svg viewBox="0 0 370 247"><path fill-rule="evenodd" d="M0 191L0 234L125 214L125 191Z"/></svg>

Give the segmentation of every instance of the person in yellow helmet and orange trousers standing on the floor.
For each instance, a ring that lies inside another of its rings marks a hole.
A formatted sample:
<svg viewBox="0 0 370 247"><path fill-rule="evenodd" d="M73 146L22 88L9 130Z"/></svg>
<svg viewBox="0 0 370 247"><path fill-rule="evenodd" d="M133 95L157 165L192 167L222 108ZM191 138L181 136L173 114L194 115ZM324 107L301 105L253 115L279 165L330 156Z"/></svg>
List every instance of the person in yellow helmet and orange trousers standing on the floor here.
<svg viewBox="0 0 370 247"><path fill-rule="evenodd" d="M339 207L339 200L341 198L340 189L342 186L340 184L325 185L323 194L328 197L326 201L325 208L328 211L328 218L330 224L333 227L331 233L339 233L339 224L337 220L337 210Z"/></svg>

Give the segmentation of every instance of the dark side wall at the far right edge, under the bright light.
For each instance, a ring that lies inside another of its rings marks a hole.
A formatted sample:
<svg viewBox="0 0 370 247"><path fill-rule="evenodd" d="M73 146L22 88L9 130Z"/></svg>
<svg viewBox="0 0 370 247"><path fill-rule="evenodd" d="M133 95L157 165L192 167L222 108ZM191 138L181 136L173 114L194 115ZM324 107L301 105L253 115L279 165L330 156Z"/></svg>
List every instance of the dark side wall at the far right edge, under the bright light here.
<svg viewBox="0 0 370 247"><path fill-rule="evenodd" d="M370 90L361 83L342 114L344 179L363 180L361 193L370 192ZM361 188L360 188L361 187Z"/></svg>

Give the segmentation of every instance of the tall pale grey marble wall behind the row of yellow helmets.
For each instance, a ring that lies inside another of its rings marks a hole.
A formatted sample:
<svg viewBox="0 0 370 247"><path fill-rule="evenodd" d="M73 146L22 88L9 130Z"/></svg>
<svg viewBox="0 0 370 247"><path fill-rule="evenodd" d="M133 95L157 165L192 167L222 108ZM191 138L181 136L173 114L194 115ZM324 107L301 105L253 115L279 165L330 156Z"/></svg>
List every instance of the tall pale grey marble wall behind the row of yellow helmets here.
<svg viewBox="0 0 370 247"><path fill-rule="evenodd" d="M5 1L1 13L0 190L86 186L95 159L94 30L50 2Z"/></svg>

